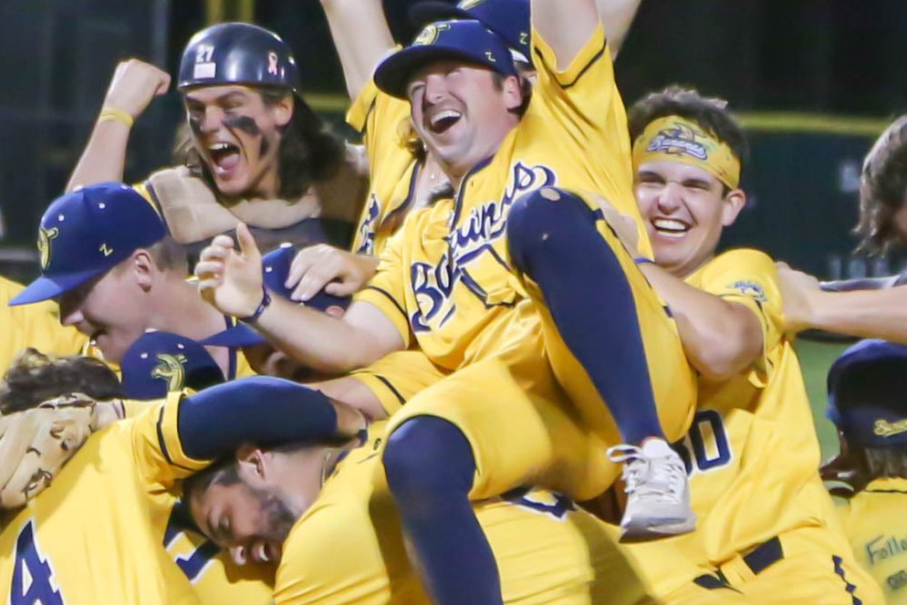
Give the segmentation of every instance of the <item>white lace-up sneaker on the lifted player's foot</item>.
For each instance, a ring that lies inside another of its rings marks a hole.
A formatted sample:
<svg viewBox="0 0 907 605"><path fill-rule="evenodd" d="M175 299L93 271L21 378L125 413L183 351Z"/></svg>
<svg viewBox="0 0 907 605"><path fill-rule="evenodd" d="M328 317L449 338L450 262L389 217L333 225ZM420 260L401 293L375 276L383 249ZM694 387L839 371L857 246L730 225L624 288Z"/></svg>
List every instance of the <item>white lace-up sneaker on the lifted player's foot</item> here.
<svg viewBox="0 0 907 605"><path fill-rule="evenodd" d="M620 541L641 542L693 531L696 515L681 457L661 439L642 447L617 445L608 450L611 462L625 463L627 507L620 519Z"/></svg>

